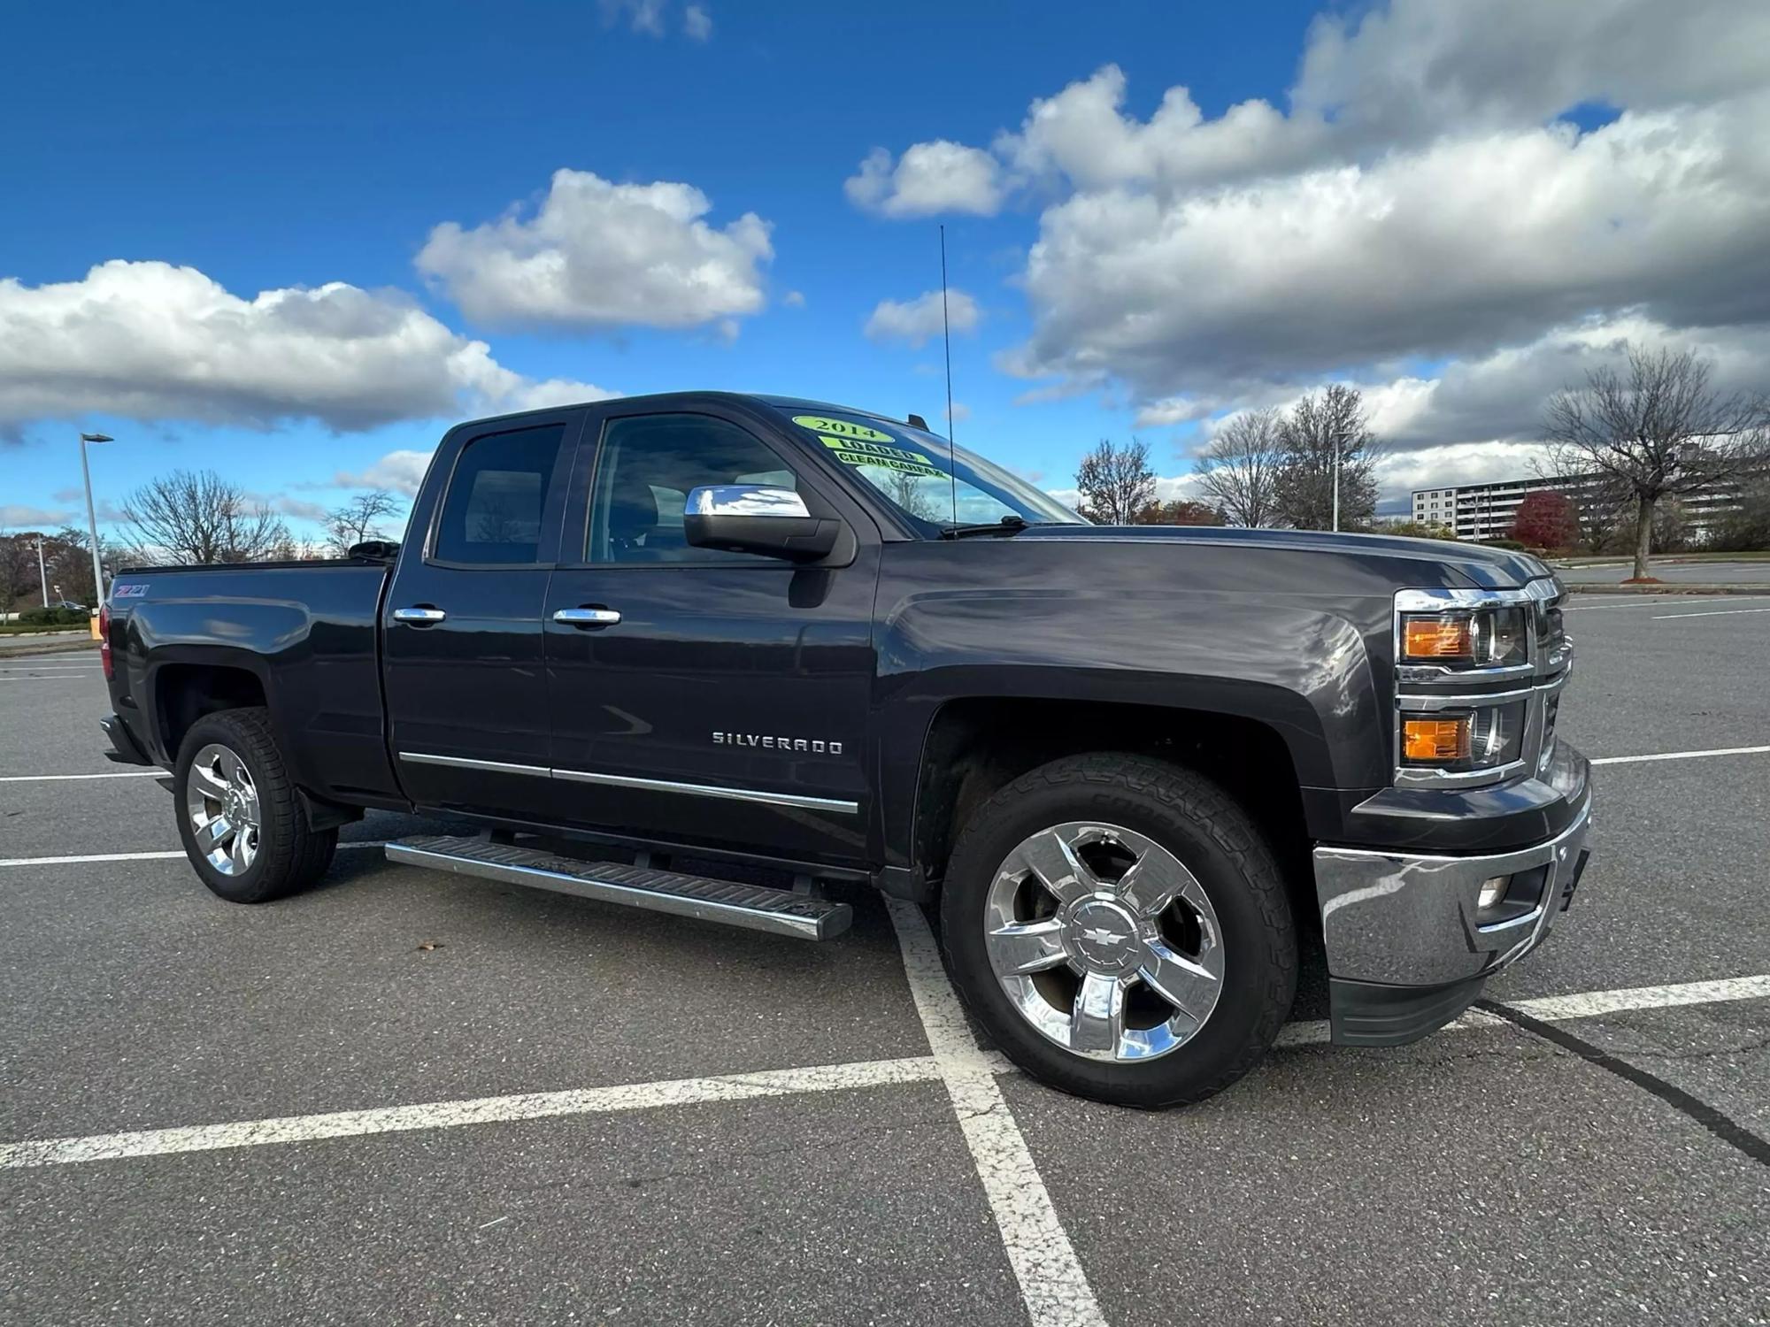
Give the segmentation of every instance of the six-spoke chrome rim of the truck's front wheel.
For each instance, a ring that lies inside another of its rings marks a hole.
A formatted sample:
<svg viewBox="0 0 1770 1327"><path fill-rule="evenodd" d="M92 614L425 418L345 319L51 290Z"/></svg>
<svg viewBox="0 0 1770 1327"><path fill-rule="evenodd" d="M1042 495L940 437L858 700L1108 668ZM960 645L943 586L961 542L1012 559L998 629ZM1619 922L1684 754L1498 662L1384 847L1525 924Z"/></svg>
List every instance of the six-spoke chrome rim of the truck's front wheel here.
<svg viewBox="0 0 1770 1327"><path fill-rule="evenodd" d="M1025 839L984 901L989 966L1034 1028L1090 1060L1152 1060L1223 989L1216 908L1166 848L1071 821Z"/></svg>

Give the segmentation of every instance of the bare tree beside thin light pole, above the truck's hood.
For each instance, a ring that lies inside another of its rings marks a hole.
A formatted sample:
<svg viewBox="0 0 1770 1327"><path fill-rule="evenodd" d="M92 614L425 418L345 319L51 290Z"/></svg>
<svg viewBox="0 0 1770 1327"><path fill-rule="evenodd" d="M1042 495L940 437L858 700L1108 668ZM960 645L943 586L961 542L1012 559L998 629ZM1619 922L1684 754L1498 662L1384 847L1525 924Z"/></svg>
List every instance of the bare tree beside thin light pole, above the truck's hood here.
<svg viewBox="0 0 1770 1327"><path fill-rule="evenodd" d="M1340 456L1340 529L1377 520L1377 439L1365 396L1335 382L1290 407L1278 425L1283 451L1274 485L1278 517L1297 529L1331 529L1335 455Z"/></svg>

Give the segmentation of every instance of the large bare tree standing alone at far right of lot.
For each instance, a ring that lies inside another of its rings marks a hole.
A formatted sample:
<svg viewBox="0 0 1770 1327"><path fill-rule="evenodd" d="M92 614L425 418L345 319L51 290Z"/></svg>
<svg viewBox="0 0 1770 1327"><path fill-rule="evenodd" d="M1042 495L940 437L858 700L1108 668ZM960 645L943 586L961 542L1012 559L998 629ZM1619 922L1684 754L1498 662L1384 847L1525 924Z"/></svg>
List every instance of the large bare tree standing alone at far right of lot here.
<svg viewBox="0 0 1770 1327"><path fill-rule="evenodd" d="M1556 393L1543 432L1563 474L1605 476L1634 499L1634 579L1644 580L1660 499L1729 483L1770 460L1770 403L1717 391L1708 361L1690 350L1628 345L1627 361Z"/></svg>

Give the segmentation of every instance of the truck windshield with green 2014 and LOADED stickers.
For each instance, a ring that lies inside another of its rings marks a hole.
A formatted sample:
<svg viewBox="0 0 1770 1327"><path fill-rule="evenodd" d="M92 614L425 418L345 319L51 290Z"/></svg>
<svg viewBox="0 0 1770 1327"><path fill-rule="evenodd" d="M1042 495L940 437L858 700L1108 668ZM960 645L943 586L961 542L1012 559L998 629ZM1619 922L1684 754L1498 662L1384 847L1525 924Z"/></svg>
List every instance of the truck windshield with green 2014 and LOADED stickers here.
<svg viewBox="0 0 1770 1327"><path fill-rule="evenodd" d="M788 418L927 538L954 524L993 525L1012 518L1028 525L1087 524L1050 494L922 428L844 410L814 414L811 407L789 410Z"/></svg>

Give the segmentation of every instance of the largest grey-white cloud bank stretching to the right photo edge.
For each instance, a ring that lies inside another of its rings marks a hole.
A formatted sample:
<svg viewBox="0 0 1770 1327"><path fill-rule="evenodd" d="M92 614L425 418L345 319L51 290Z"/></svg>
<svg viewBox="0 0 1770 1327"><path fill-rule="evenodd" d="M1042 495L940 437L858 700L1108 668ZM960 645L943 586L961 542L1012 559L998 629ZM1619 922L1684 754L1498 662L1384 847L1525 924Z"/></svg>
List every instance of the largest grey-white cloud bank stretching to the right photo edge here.
<svg viewBox="0 0 1770 1327"><path fill-rule="evenodd" d="M1078 193L1028 255L1020 368L1172 395L1481 350L1593 308L1770 317L1765 117L1770 97L1752 97L1177 200Z"/></svg>

